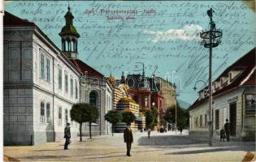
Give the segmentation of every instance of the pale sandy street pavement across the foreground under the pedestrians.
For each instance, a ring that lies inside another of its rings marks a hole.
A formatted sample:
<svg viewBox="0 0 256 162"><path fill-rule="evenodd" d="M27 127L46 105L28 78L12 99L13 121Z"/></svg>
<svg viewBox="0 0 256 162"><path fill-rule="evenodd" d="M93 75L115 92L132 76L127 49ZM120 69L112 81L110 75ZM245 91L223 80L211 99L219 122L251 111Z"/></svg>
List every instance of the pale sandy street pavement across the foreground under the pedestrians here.
<svg viewBox="0 0 256 162"><path fill-rule="evenodd" d="M63 143L46 143L33 147L4 147L4 154L21 161L241 161L247 151L255 152L254 143L215 141L208 147L206 140L189 138L175 131L134 133L132 156L125 156L123 134L85 137L83 142L72 139L70 150Z"/></svg>

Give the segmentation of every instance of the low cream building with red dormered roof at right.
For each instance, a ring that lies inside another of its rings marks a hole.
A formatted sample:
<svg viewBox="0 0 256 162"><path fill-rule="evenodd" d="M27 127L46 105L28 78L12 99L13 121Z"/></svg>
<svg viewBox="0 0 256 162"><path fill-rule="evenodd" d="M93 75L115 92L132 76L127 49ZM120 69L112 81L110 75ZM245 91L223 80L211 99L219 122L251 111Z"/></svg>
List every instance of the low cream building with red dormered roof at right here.
<svg viewBox="0 0 256 162"><path fill-rule="evenodd" d="M226 119L235 140L255 140L255 49L223 71L213 82L213 128L219 139ZM189 108L189 134L208 134L209 95L207 87Z"/></svg>

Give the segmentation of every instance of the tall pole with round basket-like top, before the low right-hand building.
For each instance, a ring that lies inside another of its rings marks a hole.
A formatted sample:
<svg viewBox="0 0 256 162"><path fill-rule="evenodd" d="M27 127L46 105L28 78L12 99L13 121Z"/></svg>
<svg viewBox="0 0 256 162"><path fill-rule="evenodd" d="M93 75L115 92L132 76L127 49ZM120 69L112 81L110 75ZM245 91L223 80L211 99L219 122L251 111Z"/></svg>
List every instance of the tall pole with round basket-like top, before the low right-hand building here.
<svg viewBox="0 0 256 162"><path fill-rule="evenodd" d="M210 18L210 31L202 31L200 33L200 37L202 38L202 45L205 48L209 48L209 146L212 146L212 135L213 135L213 123L212 123L212 90L211 90L211 64L212 64L212 48L217 47L221 43L221 36L222 31L215 28L215 22L212 20L213 13L215 11L210 8L210 10L207 11L207 15Z"/></svg>

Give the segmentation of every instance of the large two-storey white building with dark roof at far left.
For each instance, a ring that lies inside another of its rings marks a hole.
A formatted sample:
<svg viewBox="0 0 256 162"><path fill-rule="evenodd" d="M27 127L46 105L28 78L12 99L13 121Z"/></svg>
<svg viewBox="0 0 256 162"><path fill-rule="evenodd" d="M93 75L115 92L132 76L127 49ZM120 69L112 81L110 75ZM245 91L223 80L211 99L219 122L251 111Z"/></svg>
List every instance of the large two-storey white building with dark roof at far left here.
<svg viewBox="0 0 256 162"><path fill-rule="evenodd" d="M34 145L72 137L72 104L80 101L80 71L36 24L5 12L4 144Z"/></svg>

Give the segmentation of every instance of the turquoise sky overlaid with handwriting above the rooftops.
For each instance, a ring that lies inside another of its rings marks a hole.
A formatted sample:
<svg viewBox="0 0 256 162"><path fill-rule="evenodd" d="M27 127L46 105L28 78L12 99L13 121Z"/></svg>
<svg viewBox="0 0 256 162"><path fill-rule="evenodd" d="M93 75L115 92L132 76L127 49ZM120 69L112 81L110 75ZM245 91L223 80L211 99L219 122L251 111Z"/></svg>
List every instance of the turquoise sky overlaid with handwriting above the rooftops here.
<svg viewBox="0 0 256 162"><path fill-rule="evenodd" d="M68 3L80 33L81 60L116 79L122 71L141 74L144 63L145 75L176 83L178 99L189 104L208 83L209 51L200 38L209 29L207 10L213 8L216 28L223 32L213 49L213 80L255 47L255 12L241 1L13 1L5 10L36 23L61 49Z"/></svg>

